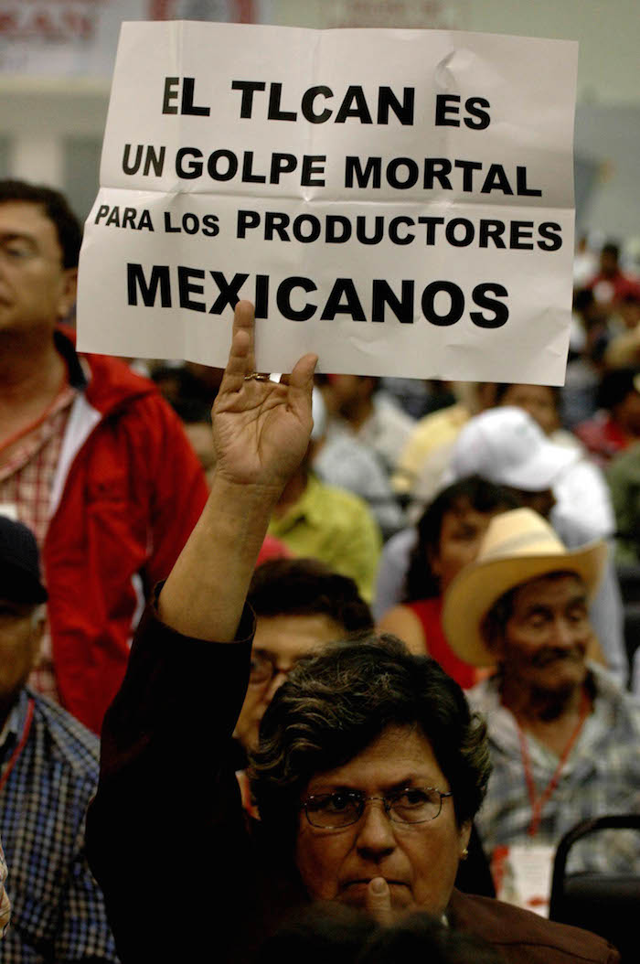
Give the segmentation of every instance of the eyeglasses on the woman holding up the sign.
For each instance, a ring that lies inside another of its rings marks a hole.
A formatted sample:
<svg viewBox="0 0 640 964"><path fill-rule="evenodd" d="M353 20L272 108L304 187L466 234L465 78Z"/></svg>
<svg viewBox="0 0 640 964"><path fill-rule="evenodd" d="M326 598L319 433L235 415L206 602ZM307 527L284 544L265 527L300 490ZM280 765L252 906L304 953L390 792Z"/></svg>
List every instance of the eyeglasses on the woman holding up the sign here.
<svg viewBox="0 0 640 964"><path fill-rule="evenodd" d="M360 790L334 790L308 796L301 810L312 827L341 830L358 823L369 800L380 800L387 817L394 823L427 823L440 815L445 796L453 796L453 791L409 787L385 796L365 796Z"/></svg>

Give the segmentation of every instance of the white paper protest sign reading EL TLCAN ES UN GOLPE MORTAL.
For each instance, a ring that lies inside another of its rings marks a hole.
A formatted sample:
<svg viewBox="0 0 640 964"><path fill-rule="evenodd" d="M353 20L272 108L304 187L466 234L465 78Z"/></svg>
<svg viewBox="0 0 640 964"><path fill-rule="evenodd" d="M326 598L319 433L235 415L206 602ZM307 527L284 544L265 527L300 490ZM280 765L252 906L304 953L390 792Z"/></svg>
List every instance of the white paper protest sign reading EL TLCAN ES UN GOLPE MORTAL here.
<svg viewBox="0 0 640 964"><path fill-rule="evenodd" d="M577 44L126 23L79 347L561 384ZM266 319L262 321L262 319Z"/></svg>

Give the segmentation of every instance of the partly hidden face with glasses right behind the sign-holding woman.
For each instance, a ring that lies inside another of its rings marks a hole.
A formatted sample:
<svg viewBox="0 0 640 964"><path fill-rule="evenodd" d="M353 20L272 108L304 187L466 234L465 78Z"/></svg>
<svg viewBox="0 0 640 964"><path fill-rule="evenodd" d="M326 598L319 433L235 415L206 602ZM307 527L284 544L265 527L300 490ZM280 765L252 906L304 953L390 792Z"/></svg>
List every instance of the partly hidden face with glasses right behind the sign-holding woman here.
<svg viewBox="0 0 640 964"><path fill-rule="evenodd" d="M253 638L252 676L233 736L247 750L257 746L260 720L286 674L302 656L342 639L344 627L329 616L258 616Z"/></svg>

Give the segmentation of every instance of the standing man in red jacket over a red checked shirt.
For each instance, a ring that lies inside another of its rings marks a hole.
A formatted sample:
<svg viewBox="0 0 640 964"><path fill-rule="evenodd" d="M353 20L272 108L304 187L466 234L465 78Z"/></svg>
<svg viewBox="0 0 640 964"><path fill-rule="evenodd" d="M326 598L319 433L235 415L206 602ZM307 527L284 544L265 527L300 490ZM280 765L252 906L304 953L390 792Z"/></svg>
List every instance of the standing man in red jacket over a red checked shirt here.
<svg viewBox="0 0 640 964"><path fill-rule="evenodd" d="M78 356L81 228L55 191L0 181L0 512L40 544L50 603L41 692L97 731L147 592L206 499L176 415L146 379Z"/></svg>

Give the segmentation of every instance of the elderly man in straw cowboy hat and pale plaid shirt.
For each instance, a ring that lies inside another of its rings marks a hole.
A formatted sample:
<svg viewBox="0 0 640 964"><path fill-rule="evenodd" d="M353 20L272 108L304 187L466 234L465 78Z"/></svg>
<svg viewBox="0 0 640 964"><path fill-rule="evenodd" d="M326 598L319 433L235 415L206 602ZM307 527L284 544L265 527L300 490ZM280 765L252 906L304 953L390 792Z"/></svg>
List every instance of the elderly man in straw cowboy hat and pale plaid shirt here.
<svg viewBox="0 0 640 964"><path fill-rule="evenodd" d="M445 596L452 648L498 667L468 694L488 719L493 762L478 829L487 850L507 859L520 898L525 870L547 872L579 820L640 813L640 704L586 658L588 605L606 555L602 542L565 549L542 517L515 509L493 519ZM574 866L640 870L640 840L590 840Z"/></svg>

